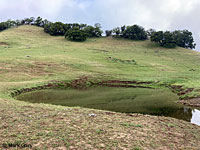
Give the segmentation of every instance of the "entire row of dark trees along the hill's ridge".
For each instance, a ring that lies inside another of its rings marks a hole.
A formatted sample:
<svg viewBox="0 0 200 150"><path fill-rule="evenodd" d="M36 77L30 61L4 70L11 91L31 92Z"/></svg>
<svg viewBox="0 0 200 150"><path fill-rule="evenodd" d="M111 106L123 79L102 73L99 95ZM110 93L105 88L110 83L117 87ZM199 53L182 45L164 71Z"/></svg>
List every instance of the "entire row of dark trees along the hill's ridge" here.
<svg viewBox="0 0 200 150"><path fill-rule="evenodd" d="M85 41L87 38L101 37L103 31L99 23L94 26L79 23L51 22L41 17L30 17L22 20L8 20L0 23L0 31L20 25L35 25L44 28L44 32L52 36L65 36L72 41ZM194 49L196 44L192 32L188 30L156 31L145 30L142 26L122 26L105 31L106 36L131 40L148 40L158 43L162 47L175 48L176 46Z"/></svg>

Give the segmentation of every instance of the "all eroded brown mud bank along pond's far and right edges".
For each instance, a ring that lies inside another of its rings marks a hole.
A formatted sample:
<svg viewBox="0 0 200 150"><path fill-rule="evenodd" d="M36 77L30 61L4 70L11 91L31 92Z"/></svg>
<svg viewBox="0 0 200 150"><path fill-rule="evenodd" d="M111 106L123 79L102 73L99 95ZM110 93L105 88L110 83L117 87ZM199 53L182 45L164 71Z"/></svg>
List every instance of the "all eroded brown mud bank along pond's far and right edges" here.
<svg viewBox="0 0 200 150"><path fill-rule="evenodd" d="M45 90L45 89L52 89L52 88L74 88L79 90L86 90L89 87L92 86L108 86L108 87L124 87L124 88L149 88L154 89L151 87L153 84L157 84L158 82L141 82L141 81L120 81L120 80L102 80L102 81L96 81L91 80L87 76L82 76L76 80L73 80L71 82L66 81L50 81L47 84L36 86L36 87L30 87L30 88L22 88L19 90L15 90L11 93L12 97L16 97L20 94L37 91L37 90ZM192 106L192 107L200 107L200 97L185 97L182 98L181 96L188 94L194 90L194 88L187 88L184 89L183 86L179 85L171 85L171 86L165 86L167 88L170 88L172 92L176 93L179 96L179 102L183 105Z"/></svg>

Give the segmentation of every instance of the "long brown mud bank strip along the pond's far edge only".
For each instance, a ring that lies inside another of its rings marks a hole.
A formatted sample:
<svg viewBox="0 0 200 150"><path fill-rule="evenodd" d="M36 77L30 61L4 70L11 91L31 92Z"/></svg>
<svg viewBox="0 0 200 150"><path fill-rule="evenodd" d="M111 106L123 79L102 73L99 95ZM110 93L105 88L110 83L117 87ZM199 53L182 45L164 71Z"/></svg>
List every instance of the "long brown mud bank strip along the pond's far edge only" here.
<svg viewBox="0 0 200 150"><path fill-rule="evenodd" d="M153 82L139 82L139 81L120 81L120 80L107 80L107 81L96 81L90 80L89 77L83 76L79 79L73 80L71 82L66 81L50 81L47 84L30 87L30 88L22 88L15 90L11 93L12 97L18 96L23 93L37 91L37 90L45 90L45 89L52 89L52 88L73 88L84 90L92 86L108 86L108 87L125 87L125 88L150 88L152 87L144 86L150 85Z"/></svg>

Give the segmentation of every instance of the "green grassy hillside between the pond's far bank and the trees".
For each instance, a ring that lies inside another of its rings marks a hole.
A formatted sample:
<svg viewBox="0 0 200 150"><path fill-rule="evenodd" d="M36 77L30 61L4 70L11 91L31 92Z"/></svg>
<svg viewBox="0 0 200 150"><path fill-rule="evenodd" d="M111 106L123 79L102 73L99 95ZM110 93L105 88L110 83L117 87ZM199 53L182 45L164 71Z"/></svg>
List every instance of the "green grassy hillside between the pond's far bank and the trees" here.
<svg viewBox="0 0 200 150"><path fill-rule="evenodd" d="M200 54L192 50L104 37L70 42L29 26L2 32L0 41L9 44L8 48L0 46L2 82L71 80L91 75L199 88ZM113 62L109 57L134 60L137 65Z"/></svg>

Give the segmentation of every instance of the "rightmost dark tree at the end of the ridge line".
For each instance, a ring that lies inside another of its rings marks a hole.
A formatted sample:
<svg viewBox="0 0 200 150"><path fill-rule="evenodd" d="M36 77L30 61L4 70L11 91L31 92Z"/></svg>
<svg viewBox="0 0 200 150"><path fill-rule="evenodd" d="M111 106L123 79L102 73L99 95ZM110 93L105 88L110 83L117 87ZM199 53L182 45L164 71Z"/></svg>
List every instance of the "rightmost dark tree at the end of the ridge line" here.
<svg viewBox="0 0 200 150"><path fill-rule="evenodd" d="M194 49L196 44L192 36L192 32L188 30L176 30L173 32L173 37L176 41L176 45L184 48Z"/></svg>

